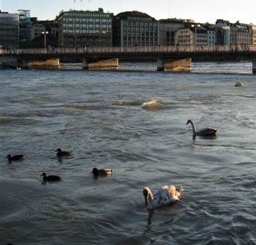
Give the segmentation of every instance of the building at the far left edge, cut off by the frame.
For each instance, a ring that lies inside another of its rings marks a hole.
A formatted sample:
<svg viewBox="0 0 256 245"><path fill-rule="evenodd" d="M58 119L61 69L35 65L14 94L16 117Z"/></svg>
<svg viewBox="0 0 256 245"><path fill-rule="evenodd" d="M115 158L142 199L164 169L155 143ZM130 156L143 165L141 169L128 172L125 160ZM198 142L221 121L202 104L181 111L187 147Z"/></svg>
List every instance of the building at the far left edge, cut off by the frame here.
<svg viewBox="0 0 256 245"><path fill-rule="evenodd" d="M0 45L2 48L19 48L19 15L0 11Z"/></svg>

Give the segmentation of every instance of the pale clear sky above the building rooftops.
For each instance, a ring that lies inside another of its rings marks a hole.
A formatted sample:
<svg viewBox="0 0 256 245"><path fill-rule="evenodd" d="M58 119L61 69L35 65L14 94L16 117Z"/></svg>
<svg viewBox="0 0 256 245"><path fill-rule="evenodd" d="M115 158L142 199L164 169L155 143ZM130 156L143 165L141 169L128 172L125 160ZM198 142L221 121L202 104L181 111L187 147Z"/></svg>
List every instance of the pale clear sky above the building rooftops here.
<svg viewBox="0 0 256 245"><path fill-rule="evenodd" d="M0 0L2 12L30 10L30 16L38 20L53 20L61 10L94 11L99 7L114 15L138 10L157 20L182 18L196 23L215 23L217 19L223 19L256 25L255 0Z"/></svg>

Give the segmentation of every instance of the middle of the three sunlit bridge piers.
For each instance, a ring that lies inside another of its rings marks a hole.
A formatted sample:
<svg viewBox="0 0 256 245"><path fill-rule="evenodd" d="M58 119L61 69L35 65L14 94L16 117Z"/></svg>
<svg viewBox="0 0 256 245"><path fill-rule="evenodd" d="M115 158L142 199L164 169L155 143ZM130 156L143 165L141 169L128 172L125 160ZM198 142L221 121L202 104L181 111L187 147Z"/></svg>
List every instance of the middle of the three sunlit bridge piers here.
<svg viewBox="0 0 256 245"><path fill-rule="evenodd" d="M118 59L83 59L82 68L89 70L118 69Z"/></svg>

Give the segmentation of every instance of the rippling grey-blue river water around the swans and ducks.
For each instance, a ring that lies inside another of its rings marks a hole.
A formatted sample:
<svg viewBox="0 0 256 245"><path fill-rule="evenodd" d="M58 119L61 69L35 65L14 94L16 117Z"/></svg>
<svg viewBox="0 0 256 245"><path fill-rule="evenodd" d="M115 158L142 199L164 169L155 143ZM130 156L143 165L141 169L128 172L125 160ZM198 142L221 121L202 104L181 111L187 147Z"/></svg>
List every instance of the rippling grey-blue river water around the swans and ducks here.
<svg viewBox="0 0 256 245"><path fill-rule="evenodd" d="M129 65L0 72L0 244L256 244L251 65ZM217 137L192 140L189 118ZM165 184L181 184L181 200L148 212L143 187Z"/></svg>

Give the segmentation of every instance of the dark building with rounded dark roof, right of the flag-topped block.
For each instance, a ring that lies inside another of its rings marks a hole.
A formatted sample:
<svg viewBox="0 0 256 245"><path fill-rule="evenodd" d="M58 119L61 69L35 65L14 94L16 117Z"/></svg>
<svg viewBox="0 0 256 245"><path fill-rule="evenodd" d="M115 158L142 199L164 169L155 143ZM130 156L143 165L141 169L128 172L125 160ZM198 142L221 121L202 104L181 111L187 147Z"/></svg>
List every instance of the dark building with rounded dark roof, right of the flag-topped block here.
<svg viewBox="0 0 256 245"><path fill-rule="evenodd" d="M114 47L159 45L159 23L144 12L127 11L113 17Z"/></svg>

